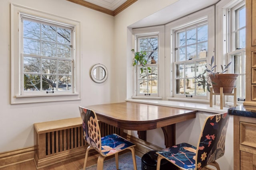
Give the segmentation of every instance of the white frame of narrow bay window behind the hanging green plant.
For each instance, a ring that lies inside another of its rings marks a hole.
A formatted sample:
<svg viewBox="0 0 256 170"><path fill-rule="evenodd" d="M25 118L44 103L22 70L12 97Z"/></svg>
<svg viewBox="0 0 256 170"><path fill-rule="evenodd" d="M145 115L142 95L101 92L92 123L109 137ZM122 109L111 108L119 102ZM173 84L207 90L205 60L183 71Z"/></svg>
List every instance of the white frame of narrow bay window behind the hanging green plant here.
<svg viewBox="0 0 256 170"><path fill-rule="evenodd" d="M158 63L150 64L151 66L158 66L158 94L150 95L139 95L137 93L138 89L138 68L134 66L134 94L132 98L146 98L146 99L162 99L164 98L164 25L146 27L146 28L136 28L132 29L133 40L134 40L134 49L136 49L136 37L148 36L148 35L158 35ZM134 58L134 55L133 57Z"/></svg>

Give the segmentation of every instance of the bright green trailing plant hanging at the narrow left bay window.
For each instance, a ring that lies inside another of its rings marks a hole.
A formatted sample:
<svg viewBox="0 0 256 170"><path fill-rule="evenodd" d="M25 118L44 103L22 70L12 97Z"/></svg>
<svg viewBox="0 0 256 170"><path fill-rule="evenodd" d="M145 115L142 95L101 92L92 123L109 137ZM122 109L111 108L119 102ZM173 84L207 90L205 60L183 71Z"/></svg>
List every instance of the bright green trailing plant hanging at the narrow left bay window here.
<svg viewBox="0 0 256 170"><path fill-rule="evenodd" d="M134 52L134 49L132 49L131 51ZM148 61L146 60L146 56L147 56L147 53L145 51L134 53L132 66L142 65L142 68L140 68L141 73L144 72L144 70L146 70L146 64L148 63ZM150 67L148 67L148 72L151 72Z"/></svg>

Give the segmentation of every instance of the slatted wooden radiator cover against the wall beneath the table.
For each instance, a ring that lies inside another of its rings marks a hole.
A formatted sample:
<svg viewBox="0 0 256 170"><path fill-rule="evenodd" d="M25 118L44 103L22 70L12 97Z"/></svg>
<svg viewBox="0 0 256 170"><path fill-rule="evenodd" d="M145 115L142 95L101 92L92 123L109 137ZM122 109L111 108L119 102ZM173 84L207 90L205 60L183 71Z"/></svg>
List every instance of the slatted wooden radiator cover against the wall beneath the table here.
<svg viewBox="0 0 256 170"><path fill-rule="evenodd" d="M123 135L123 129L103 122L99 122L99 125L102 136L112 133ZM80 117L35 123L34 133L37 169L84 155L88 147Z"/></svg>

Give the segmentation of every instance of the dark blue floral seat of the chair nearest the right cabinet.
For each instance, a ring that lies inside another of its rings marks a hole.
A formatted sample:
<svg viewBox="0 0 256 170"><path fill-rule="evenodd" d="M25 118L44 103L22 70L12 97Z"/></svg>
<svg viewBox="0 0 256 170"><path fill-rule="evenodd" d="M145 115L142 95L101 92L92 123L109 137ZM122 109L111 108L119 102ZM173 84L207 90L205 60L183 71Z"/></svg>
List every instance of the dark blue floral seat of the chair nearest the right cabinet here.
<svg viewBox="0 0 256 170"><path fill-rule="evenodd" d="M157 152L170 162L184 170L194 170L196 147L188 143L180 143Z"/></svg>

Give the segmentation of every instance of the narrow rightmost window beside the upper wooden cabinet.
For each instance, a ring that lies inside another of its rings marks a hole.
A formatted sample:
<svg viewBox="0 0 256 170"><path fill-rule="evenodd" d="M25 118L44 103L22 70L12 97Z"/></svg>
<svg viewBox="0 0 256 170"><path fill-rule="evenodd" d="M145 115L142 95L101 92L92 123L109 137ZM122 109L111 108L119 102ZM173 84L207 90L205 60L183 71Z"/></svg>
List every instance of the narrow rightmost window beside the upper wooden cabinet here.
<svg viewBox="0 0 256 170"><path fill-rule="evenodd" d="M245 2L237 4L229 10L230 15L230 47L228 59L232 61L231 73L238 74L236 80L237 97L245 99L245 33L246 15ZM232 97L228 101L232 101ZM239 101L238 101L239 102Z"/></svg>

